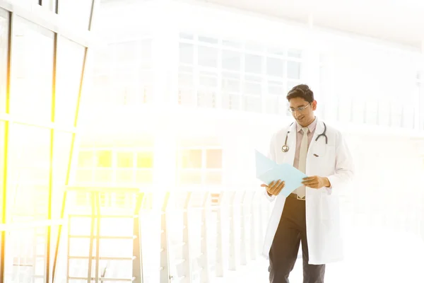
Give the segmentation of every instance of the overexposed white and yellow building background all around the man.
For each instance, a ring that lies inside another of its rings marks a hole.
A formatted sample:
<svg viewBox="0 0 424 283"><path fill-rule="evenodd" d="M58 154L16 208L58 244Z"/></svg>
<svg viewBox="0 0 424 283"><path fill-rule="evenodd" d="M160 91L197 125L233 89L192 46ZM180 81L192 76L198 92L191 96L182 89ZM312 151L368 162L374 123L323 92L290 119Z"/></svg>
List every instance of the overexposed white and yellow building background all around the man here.
<svg viewBox="0 0 424 283"><path fill-rule="evenodd" d="M423 15L0 0L0 282L268 282L254 149L292 122L299 83L356 168L326 282L424 282Z"/></svg>

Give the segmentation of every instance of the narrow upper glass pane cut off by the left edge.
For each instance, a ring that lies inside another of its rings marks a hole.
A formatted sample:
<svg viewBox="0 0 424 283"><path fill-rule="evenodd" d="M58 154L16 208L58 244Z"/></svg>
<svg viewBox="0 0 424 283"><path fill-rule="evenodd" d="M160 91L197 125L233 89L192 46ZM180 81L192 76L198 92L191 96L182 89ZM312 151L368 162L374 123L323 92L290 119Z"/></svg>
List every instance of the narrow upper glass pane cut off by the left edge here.
<svg viewBox="0 0 424 283"><path fill-rule="evenodd" d="M8 15L0 8L0 113L6 112Z"/></svg>

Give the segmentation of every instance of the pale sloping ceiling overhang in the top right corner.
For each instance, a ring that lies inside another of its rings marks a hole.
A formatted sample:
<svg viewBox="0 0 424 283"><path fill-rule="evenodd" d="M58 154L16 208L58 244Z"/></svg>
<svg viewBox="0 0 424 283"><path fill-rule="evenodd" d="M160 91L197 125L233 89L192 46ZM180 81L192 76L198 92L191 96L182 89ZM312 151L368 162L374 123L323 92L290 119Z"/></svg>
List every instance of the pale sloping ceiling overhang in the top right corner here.
<svg viewBox="0 0 424 283"><path fill-rule="evenodd" d="M423 0L197 0L422 48ZM423 50L424 51L424 50Z"/></svg>

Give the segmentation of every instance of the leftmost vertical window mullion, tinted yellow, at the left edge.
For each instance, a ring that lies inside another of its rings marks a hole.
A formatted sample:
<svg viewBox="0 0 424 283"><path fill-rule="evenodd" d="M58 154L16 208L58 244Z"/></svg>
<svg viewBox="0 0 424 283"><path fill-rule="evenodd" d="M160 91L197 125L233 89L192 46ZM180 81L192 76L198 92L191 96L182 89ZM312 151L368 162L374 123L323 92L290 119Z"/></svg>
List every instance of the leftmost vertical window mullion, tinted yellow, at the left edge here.
<svg viewBox="0 0 424 283"><path fill-rule="evenodd" d="M10 112L10 92L11 92L11 65L12 65L12 47L13 47L13 20L14 14L9 13L8 18L8 54L7 54L7 72L6 72L6 113ZM2 216L1 223L6 224L6 198L7 198L7 168L8 168L8 136L9 121L4 122L4 159L3 159L3 184L2 185ZM6 231L1 231L1 250L0 250L0 281L4 281L4 259L6 248Z"/></svg>

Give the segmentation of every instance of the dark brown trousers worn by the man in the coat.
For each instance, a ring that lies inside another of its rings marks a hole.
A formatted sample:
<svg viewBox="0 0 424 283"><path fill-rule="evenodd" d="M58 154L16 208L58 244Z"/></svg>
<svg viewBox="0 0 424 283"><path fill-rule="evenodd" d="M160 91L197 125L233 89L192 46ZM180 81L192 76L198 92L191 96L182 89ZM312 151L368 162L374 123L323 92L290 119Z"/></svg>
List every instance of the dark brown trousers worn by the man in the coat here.
<svg viewBox="0 0 424 283"><path fill-rule="evenodd" d="M303 283L323 283L325 265L308 264L305 201L290 195L284 204L280 223L269 251L269 282L289 283L302 242Z"/></svg>

